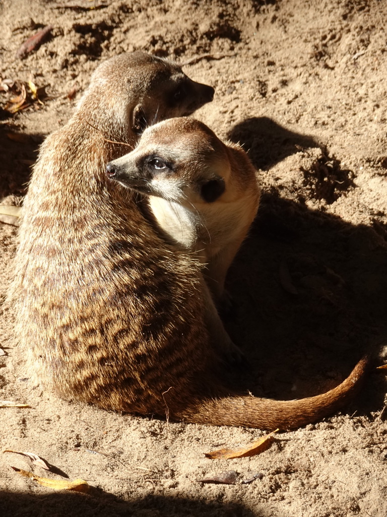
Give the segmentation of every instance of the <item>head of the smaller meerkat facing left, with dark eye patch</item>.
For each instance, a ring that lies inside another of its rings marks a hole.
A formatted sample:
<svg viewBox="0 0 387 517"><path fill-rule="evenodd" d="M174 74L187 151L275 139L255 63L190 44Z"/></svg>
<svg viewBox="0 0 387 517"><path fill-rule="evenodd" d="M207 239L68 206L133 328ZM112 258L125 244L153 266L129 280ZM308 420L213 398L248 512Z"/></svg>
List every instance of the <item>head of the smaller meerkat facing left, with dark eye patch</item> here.
<svg viewBox="0 0 387 517"><path fill-rule="evenodd" d="M179 117L147 128L137 147L107 164L106 174L138 192L179 204L209 204L227 191L225 145L198 120Z"/></svg>

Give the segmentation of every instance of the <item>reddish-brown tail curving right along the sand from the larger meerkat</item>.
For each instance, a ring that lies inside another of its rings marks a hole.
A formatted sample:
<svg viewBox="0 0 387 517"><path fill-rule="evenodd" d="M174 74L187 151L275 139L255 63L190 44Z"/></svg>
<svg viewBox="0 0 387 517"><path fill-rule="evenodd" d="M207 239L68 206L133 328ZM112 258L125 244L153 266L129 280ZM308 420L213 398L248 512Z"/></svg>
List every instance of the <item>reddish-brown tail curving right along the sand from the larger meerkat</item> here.
<svg viewBox="0 0 387 517"><path fill-rule="evenodd" d="M228 396L200 401L170 416L190 423L242 425L269 431L297 429L334 413L349 402L362 384L367 365L368 358L363 357L341 384L315 397L276 401Z"/></svg>

